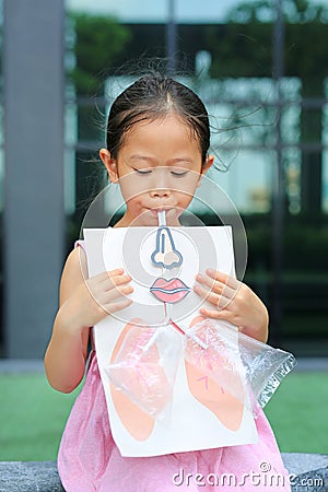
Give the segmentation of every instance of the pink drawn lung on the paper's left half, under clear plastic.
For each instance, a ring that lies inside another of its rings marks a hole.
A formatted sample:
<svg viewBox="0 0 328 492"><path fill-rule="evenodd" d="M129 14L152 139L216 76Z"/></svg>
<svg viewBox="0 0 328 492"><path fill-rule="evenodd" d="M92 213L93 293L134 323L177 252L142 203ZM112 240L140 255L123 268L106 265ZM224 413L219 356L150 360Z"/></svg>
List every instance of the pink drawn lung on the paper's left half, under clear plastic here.
<svg viewBox="0 0 328 492"><path fill-rule="evenodd" d="M169 329L131 319L120 333L106 368L117 414L138 441L150 436L155 420L163 418L172 402L180 356L175 337Z"/></svg>

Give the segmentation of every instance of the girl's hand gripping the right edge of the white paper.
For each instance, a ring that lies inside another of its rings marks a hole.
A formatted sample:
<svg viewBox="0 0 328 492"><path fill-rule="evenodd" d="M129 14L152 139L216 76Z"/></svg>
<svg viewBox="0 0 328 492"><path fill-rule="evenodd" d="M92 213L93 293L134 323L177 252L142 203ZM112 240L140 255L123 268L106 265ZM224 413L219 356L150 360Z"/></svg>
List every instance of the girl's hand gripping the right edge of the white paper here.
<svg viewBox="0 0 328 492"><path fill-rule="evenodd" d="M233 277L212 269L207 269L206 273L196 276L199 283L194 290L215 308L202 307L200 313L209 318L230 321L245 335L266 342L269 318L260 298Z"/></svg>

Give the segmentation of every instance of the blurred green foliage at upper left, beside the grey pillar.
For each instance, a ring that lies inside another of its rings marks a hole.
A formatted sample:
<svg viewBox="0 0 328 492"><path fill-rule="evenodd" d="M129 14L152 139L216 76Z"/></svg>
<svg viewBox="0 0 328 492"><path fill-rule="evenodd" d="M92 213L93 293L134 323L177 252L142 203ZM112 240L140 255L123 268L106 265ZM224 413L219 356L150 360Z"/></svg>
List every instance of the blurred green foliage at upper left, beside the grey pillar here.
<svg viewBox="0 0 328 492"><path fill-rule="evenodd" d="M78 94L101 92L107 71L130 38L127 26L114 17L71 14L75 30L77 67L71 73Z"/></svg>

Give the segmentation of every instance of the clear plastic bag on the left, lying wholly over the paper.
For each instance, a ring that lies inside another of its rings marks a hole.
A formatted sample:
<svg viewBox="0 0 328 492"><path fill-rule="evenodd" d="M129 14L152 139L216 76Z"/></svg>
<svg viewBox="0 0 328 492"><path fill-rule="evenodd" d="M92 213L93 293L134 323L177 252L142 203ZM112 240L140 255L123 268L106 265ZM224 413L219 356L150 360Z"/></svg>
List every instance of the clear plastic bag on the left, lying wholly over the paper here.
<svg viewBox="0 0 328 492"><path fill-rule="evenodd" d="M169 415L177 365L183 351L179 333L172 327L130 325L112 364L105 367L110 382L150 415Z"/></svg>

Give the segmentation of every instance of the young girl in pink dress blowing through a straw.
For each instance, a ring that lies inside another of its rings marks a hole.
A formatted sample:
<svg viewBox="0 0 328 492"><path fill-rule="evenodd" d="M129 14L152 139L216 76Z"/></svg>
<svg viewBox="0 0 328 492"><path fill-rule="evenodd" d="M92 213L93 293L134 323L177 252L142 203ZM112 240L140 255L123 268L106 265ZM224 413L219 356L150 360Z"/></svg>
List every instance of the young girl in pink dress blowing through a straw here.
<svg viewBox="0 0 328 492"><path fill-rule="evenodd" d="M165 210L168 226L180 225L179 215L213 164L209 145L208 114L190 89L155 74L143 77L125 90L112 106L107 148L99 152L110 181L119 184L127 206L115 226L155 226L161 210ZM45 355L49 383L63 393L77 388L84 376L91 327L131 304L131 278L122 269L87 278L83 242L79 246L69 255L62 272L60 307ZM212 305L200 309L202 316L231 321L244 333L267 341L267 309L247 285L208 270L206 276L197 277L195 291ZM247 480L247 476L259 473L261 464L268 464L271 473L285 475L285 470L261 410L256 425L257 444L148 458L121 457L110 433L93 350L84 386L62 436L59 475L68 492L232 490L229 482L226 489L197 480L178 483L173 478L180 470L194 478L197 473L233 473L239 483L235 489L258 491L259 483ZM268 490L290 488L286 483L278 488L271 484Z"/></svg>

